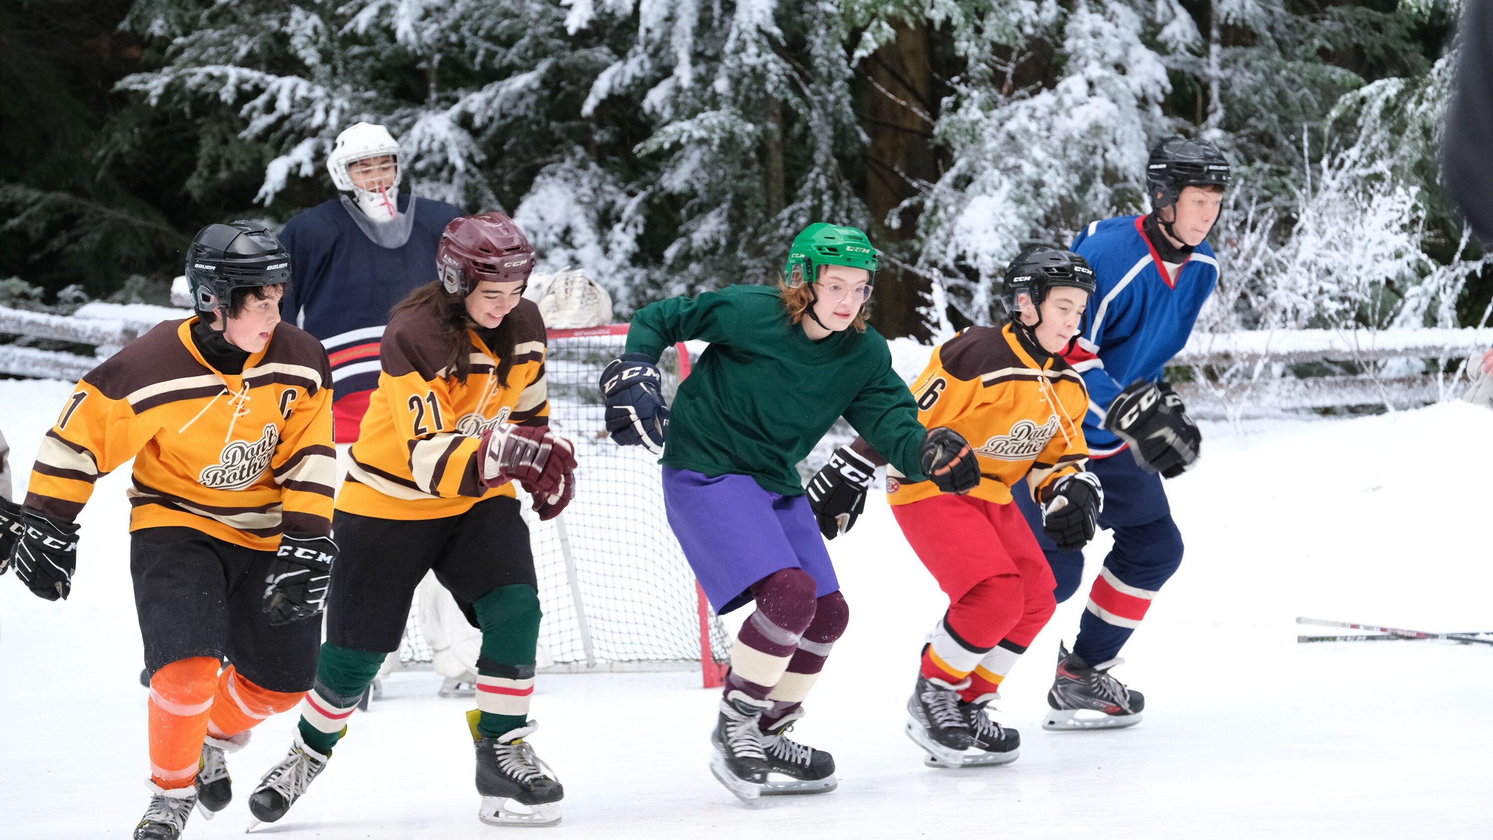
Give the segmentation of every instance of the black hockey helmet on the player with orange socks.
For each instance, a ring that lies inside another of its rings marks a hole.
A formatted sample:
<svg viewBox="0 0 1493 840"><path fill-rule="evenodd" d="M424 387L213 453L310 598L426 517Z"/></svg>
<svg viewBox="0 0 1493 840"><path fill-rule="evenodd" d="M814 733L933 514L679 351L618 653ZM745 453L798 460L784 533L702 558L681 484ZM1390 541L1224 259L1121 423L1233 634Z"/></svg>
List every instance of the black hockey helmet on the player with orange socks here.
<svg viewBox="0 0 1493 840"><path fill-rule="evenodd" d="M193 307L208 313L227 310L233 289L290 282L290 252L264 225L236 221L212 224L187 249L187 283Z"/></svg>

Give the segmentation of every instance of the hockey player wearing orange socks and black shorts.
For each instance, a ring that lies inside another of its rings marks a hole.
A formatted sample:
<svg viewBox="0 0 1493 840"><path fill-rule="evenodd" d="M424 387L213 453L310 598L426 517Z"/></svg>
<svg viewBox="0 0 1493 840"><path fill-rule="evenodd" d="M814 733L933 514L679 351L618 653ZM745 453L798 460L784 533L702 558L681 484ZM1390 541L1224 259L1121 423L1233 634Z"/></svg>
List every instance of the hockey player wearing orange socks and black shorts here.
<svg viewBox="0 0 1493 840"><path fill-rule="evenodd" d="M197 315L88 372L42 439L15 554L31 592L67 598L78 513L134 458L130 576L151 671L136 840L181 837L194 804L222 810L224 753L311 688L337 554L331 373L321 345L279 319L290 257L255 222L213 224L187 278Z"/></svg>

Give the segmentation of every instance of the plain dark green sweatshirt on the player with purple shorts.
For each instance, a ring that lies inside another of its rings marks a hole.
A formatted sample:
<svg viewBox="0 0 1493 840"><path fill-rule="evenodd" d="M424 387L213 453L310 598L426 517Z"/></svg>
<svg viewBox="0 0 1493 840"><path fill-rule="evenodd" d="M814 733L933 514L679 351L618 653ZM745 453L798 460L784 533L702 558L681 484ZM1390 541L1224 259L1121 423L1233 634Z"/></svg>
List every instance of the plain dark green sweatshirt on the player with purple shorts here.
<svg viewBox="0 0 1493 840"><path fill-rule="evenodd" d="M908 480L924 480L927 430L881 333L851 328L815 343L788 321L778 289L727 286L640 309L627 352L657 360L693 339L711 346L673 398L666 467L751 476L763 489L800 495L794 464L844 415Z"/></svg>

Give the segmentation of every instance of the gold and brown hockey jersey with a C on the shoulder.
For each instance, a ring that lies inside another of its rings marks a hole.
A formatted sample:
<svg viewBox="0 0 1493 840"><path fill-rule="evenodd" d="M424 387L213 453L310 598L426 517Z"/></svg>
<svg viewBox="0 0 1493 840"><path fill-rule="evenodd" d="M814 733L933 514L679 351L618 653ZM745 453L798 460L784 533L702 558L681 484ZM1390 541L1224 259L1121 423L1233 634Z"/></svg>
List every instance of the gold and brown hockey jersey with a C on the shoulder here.
<svg viewBox="0 0 1493 840"><path fill-rule="evenodd" d="M336 451L321 342L281 322L243 373L167 321L88 372L31 470L25 506L73 521L94 482L134 458L130 530L181 525L273 551L282 531L331 531Z"/></svg>

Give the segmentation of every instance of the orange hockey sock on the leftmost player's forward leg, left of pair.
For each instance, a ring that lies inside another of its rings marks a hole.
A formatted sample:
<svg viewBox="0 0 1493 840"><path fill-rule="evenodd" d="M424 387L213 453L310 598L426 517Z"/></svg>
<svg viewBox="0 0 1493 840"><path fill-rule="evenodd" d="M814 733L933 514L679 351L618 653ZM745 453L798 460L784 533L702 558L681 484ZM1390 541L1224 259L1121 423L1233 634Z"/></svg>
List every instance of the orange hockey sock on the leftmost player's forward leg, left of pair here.
<svg viewBox="0 0 1493 840"><path fill-rule="evenodd" d="M161 789L187 788L197 777L218 664L213 656L191 656L151 677L151 780Z"/></svg>

